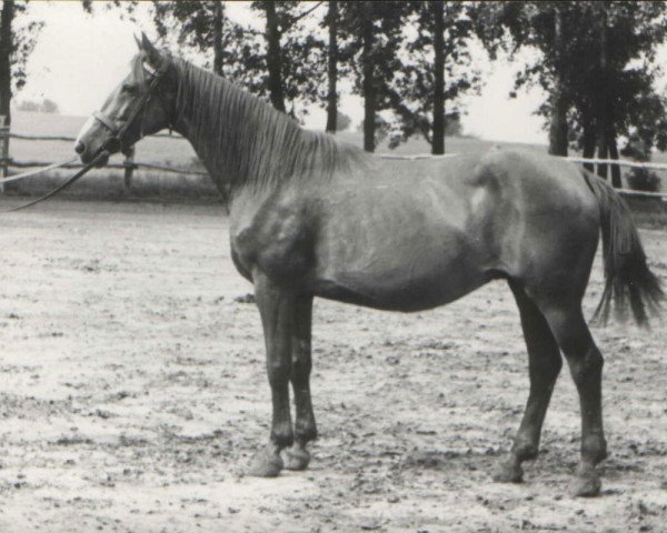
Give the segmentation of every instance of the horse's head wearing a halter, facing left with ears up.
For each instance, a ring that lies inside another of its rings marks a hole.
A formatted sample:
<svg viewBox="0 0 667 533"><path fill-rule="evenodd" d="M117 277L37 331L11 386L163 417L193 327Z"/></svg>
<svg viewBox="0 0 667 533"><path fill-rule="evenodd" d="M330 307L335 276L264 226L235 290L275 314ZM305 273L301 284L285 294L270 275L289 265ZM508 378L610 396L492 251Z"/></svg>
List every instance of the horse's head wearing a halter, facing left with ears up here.
<svg viewBox="0 0 667 533"><path fill-rule="evenodd" d="M81 129L74 150L83 163L102 152L127 152L142 137L171 125L169 80L171 57L160 52L146 37L137 40L139 53L132 70L109 94L99 112ZM101 164L106 164L108 157Z"/></svg>

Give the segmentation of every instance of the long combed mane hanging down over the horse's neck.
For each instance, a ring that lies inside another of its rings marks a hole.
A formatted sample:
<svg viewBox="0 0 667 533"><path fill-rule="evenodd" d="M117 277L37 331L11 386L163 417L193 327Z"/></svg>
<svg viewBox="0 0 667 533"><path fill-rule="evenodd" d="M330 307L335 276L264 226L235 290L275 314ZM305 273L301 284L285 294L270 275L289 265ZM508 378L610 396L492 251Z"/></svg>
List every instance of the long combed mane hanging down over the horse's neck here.
<svg viewBox="0 0 667 533"><path fill-rule="evenodd" d="M327 133L305 130L269 103L182 59L176 123L218 184L272 188L292 180L327 180L361 162L365 153Z"/></svg>

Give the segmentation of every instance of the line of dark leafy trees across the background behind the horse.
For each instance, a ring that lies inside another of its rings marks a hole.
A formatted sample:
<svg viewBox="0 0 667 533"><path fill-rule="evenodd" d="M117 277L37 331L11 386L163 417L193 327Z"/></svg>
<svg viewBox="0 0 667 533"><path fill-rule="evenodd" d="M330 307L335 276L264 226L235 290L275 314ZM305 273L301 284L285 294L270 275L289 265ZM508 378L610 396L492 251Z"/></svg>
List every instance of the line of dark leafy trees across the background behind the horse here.
<svg viewBox="0 0 667 533"><path fill-rule="evenodd" d="M84 0L89 12L104 9ZM165 43L206 58L205 67L277 109L300 118L326 109L326 129L339 128L340 88L364 100L364 148L381 133L396 145L419 133L432 153L445 152L448 122L457 124L459 97L479 88L471 50L510 60L538 50L515 89L537 86L537 112L549 132L549 152L647 160L667 148L665 97L656 50L667 31L664 2L255 1L261 27L235 22L226 2L153 1ZM137 2L110 2L132 16ZM24 62L39 22L17 24L24 4L3 0L0 23L0 113L24 82ZM449 130L452 130L450 127ZM619 141L624 145L619 147ZM598 173L607 175L606 165ZM620 185L617 167L611 179Z"/></svg>

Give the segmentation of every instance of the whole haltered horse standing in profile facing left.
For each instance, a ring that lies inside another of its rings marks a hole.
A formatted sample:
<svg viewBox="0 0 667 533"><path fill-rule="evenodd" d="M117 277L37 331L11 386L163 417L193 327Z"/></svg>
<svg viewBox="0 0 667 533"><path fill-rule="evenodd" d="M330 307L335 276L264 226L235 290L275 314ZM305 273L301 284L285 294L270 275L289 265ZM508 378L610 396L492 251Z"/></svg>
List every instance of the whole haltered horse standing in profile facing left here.
<svg viewBox="0 0 667 533"><path fill-rule="evenodd" d="M581 311L601 233L605 289L596 318L639 324L664 293L631 213L603 179L546 154L491 150L384 160L301 129L222 77L158 50L142 34L130 73L82 129L83 162L169 128L188 139L227 199L231 258L253 284L271 390L269 442L248 473L302 470L317 436L310 394L315 296L379 310L444 305L504 279L516 299L530 389L514 444L492 475L520 482L536 459L561 369L581 414L576 496L600 492L607 455L603 355ZM292 424L290 383L295 396Z"/></svg>

